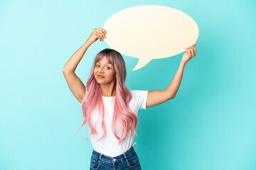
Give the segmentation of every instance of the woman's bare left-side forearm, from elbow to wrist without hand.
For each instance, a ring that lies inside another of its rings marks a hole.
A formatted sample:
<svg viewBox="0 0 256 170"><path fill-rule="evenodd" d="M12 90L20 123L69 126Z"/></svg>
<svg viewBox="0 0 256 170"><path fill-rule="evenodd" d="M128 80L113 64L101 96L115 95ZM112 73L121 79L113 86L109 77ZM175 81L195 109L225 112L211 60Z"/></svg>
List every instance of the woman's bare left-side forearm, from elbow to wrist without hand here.
<svg viewBox="0 0 256 170"><path fill-rule="evenodd" d="M76 67L78 67L79 62L82 60L82 57L85 55L85 52L88 47L92 45L92 42L86 41L82 47L80 47L66 62L65 66L63 67L63 73L73 72L75 73Z"/></svg>

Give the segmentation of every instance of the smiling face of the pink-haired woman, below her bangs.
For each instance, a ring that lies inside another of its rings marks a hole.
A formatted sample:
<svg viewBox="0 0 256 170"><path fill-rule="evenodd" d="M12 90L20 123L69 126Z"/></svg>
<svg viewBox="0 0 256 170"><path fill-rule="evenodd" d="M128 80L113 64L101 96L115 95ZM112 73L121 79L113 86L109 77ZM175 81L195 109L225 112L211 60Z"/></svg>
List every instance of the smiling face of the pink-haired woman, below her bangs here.
<svg viewBox="0 0 256 170"><path fill-rule="evenodd" d="M102 77L98 77L101 75ZM100 61L95 64L94 76L99 84L110 84L115 80L115 71L112 64L107 62L107 58L104 56Z"/></svg>

